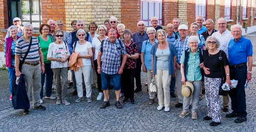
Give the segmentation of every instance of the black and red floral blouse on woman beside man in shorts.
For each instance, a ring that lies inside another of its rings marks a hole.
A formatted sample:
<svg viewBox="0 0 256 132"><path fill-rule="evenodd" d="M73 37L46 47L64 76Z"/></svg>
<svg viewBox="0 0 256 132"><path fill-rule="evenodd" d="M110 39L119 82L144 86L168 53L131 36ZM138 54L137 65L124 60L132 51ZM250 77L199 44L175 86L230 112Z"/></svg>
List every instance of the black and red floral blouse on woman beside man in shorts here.
<svg viewBox="0 0 256 132"><path fill-rule="evenodd" d="M134 55L135 53L138 53L137 45L132 42L129 46L125 45L125 50L128 55ZM134 69L136 68L136 59L126 59L124 69Z"/></svg>

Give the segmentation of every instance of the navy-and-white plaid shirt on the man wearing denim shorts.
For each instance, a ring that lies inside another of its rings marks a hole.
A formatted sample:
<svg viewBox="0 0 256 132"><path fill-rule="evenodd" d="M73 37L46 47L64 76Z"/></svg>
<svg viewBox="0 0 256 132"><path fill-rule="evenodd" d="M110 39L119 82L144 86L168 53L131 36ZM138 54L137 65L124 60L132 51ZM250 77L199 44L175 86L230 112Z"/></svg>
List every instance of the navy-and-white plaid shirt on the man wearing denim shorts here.
<svg viewBox="0 0 256 132"><path fill-rule="evenodd" d="M125 55L125 46L121 41L121 48L118 39L114 43L106 39L100 46L99 51L102 52L102 65L101 70L106 74L116 74L121 66L121 55Z"/></svg>

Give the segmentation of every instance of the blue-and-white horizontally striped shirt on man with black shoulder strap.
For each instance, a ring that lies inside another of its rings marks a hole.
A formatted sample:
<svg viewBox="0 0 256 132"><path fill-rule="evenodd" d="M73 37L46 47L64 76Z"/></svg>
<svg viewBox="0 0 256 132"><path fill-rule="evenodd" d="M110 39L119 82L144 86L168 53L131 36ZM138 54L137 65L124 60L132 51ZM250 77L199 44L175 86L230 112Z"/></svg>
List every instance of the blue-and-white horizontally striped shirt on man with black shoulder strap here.
<svg viewBox="0 0 256 132"><path fill-rule="evenodd" d="M21 37L17 40L16 46L15 46L15 55L20 56L20 60L23 60L28 48L29 48L30 41L26 41L24 37ZM29 63L35 63L39 62L39 52L38 49L41 49L38 40L36 37L32 37L32 44L28 53L27 58L25 59L25 62Z"/></svg>

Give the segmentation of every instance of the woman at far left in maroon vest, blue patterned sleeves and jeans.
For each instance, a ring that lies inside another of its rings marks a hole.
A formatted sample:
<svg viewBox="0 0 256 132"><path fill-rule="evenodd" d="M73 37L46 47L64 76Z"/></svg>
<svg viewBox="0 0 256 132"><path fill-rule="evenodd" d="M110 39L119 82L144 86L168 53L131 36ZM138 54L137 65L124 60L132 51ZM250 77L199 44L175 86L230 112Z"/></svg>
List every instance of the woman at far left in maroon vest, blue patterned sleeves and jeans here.
<svg viewBox="0 0 256 132"><path fill-rule="evenodd" d="M20 37L17 36L18 29L15 25L11 25L11 27L8 28L8 31L10 33L10 37L6 38L5 44L4 44L4 57L5 57L5 64L8 68L9 73L9 86L10 86L10 100L12 100L12 81L15 77L15 69L14 69L14 59L15 59L15 44L16 40L18 40Z"/></svg>

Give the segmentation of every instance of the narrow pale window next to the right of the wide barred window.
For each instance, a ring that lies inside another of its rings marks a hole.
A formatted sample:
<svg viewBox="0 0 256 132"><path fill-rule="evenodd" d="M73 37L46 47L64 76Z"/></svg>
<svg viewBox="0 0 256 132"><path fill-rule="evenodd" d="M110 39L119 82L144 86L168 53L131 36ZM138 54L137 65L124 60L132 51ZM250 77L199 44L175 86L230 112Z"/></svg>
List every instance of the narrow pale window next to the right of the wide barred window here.
<svg viewBox="0 0 256 132"><path fill-rule="evenodd" d="M205 21L206 0L196 0L196 16L202 15Z"/></svg>

